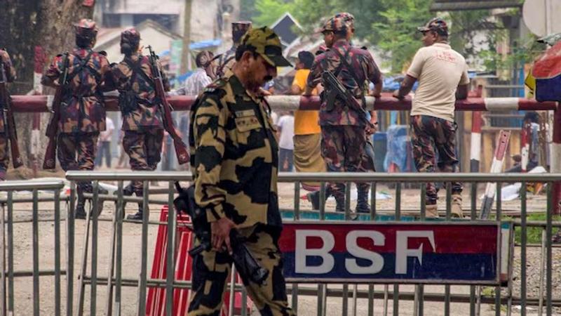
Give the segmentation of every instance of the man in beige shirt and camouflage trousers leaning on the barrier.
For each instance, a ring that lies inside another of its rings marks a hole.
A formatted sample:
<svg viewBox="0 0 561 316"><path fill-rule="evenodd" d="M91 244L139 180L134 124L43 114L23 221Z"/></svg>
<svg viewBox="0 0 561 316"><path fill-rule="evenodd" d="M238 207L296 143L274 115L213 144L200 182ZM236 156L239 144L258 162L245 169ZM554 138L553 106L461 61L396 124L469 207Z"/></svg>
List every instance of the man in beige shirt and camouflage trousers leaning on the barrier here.
<svg viewBox="0 0 561 316"><path fill-rule="evenodd" d="M458 159L454 105L456 100L468 96L466 60L450 48L448 27L444 20L433 18L418 29L423 34L425 47L415 54L405 79L393 96L405 98L415 81L419 80L410 121L415 165L420 172L434 172L435 152L438 152L438 169L442 172L455 172L458 169ZM452 215L458 217L463 217L461 190L461 183L452 183ZM434 183L427 183L427 217L438 217L437 199L438 188Z"/></svg>

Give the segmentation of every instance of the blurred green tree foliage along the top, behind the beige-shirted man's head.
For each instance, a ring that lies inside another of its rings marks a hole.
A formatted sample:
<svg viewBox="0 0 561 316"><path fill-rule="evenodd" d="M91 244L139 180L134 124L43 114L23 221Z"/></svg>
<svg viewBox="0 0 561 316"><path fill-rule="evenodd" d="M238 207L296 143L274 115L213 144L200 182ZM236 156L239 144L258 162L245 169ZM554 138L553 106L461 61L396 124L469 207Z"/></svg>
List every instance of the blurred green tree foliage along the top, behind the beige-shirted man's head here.
<svg viewBox="0 0 561 316"><path fill-rule="evenodd" d="M285 12L290 12L304 28L303 34L316 37L313 30L325 19L337 12L349 12L356 18L356 37L366 39L387 58L391 72L401 73L409 65L414 53L422 46L417 27L435 16L450 24L450 44L466 57L484 60L487 70L505 67L503 56L496 53L496 43L504 37L505 29L500 22L492 20L491 11L452 11L435 13L429 11L432 1L426 0L242 0L244 16L256 25L271 25ZM513 15L520 12L513 11ZM484 39L475 37L487 30ZM476 42L476 41L480 42ZM487 46L485 51L478 47ZM520 44L516 55L525 56L525 45ZM516 59L520 59L516 58Z"/></svg>

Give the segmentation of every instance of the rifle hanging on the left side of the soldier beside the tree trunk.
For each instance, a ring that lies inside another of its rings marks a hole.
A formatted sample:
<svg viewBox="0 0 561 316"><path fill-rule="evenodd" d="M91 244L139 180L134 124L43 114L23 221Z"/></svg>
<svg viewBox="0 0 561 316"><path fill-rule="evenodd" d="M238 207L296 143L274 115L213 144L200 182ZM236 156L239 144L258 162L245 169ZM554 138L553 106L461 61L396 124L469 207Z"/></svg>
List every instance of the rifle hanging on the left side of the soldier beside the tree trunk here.
<svg viewBox="0 0 561 316"><path fill-rule="evenodd" d="M57 136L58 136L58 121L60 121L60 103L62 103L62 94L65 91L68 78L68 53L65 53L62 62L62 73L58 79L58 87L55 91L53 98L53 115L47 125L46 136L48 137L47 150L45 151L45 160L43 161L43 169L55 169L56 166L56 150L57 150Z"/></svg>

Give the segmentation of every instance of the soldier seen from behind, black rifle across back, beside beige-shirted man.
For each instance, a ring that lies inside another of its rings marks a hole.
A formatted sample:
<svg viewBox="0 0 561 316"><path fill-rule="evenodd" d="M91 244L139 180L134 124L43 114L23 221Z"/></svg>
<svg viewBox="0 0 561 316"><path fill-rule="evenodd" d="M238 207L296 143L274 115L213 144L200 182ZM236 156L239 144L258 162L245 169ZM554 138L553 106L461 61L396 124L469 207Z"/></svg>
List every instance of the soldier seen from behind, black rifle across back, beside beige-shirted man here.
<svg viewBox="0 0 561 316"><path fill-rule="evenodd" d="M367 81L375 88L374 96L381 92L381 73L372 55L365 49L349 44L354 33L354 18L350 13L337 13L328 20L322 29L325 45L330 48L318 55L313 62L308 76L306 94L322 80L324 71L330 71L356 97L358 103L365 106L364 96L367 93ZM325 83L323 83L325 86ZM325 86L325 93L329 87ZM377 125L376 112L370 111L370 119L365 111L353 109L337 98L334 104L327 104L325 98L320 107L320 126L322 133L322 154L331 172L368 172L374 171L373 151L370 146L370 135ZM368 205L368 183L357 183L358 201L356 211L370 212ZM337 202L337 211L344 211L344 183L329 183L326 196L333 195ZM314 208L319 204L319 192L309 194Z"/></svg>

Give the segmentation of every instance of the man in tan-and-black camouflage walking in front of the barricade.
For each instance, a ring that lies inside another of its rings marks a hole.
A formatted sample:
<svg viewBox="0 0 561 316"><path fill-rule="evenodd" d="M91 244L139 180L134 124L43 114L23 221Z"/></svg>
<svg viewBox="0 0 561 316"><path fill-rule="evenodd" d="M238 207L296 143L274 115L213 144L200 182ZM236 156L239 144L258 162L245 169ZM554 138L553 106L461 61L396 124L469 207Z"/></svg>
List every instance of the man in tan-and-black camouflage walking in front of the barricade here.
<svg viewBox="0 0 561 316"><path fill-rule="evenodd" d="M193 259L189 316L219 315L232 264L231 229L248 237L245 245L269 270L264 284L243 279L261 315L294 315L278 248L278 143L270 108L258 93L276 77L277 66L290 65L281 49L271 29L251 29L238 47L232 72L205 88L191 111L195 199L206 210L213 247Z"/></svg>

